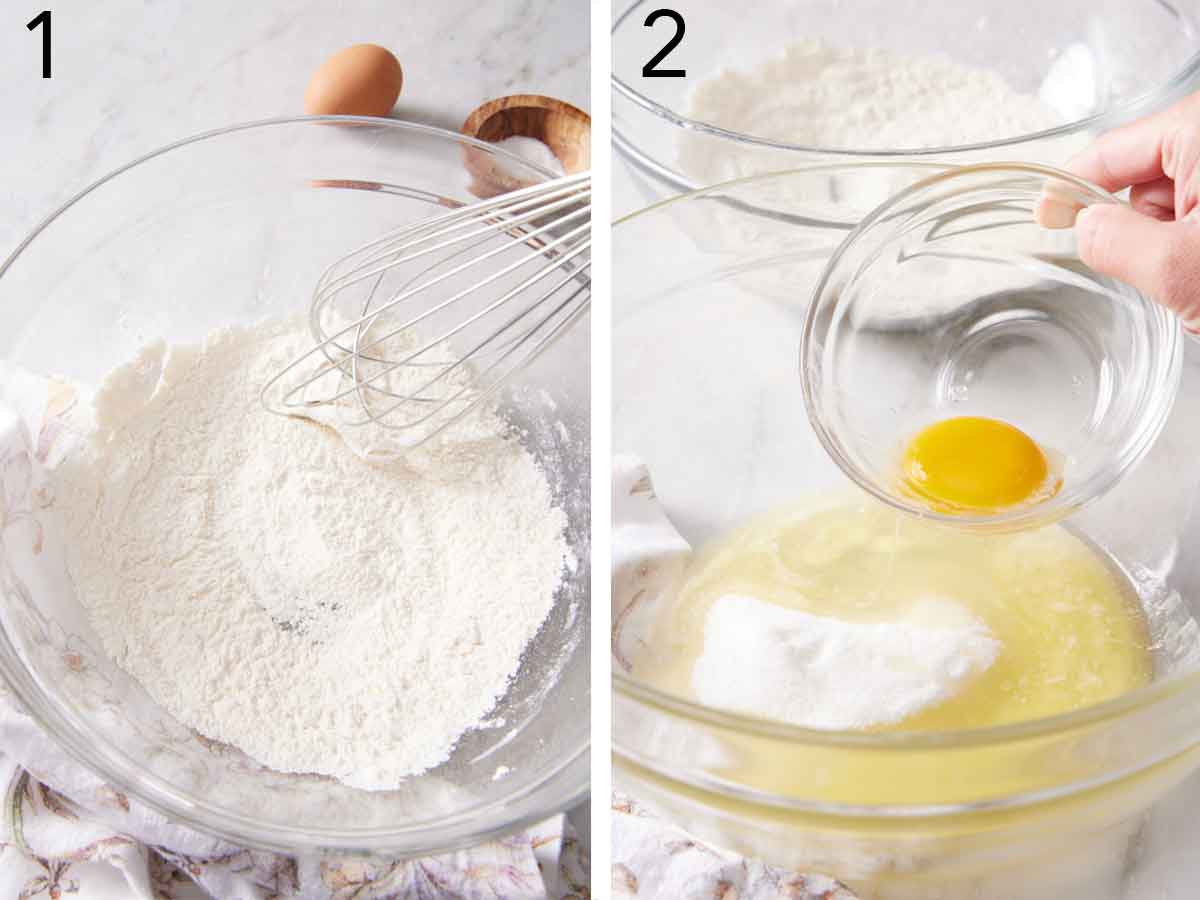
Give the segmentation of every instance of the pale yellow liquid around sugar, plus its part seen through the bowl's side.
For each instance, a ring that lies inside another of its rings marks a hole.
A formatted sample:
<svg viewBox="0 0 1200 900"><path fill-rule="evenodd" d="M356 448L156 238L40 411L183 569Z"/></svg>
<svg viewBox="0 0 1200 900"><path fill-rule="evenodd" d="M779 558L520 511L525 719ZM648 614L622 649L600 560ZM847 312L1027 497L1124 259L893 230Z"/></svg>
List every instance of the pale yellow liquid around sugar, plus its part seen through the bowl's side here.
<svg viewBox="0 0 1200 900"><path fill-rule="evenodd" d="M1067 713L1150 682L1148 632L1128 581L1096 547L1054 526L979 535L853 498L768 515L700 552L635 674L695 700L692 668L712 604L742 594L811 614L887 623L936 595L985 623L992 665L949 700L881 732L964 732ZM1090 754L1042 742L962 742L876 752L743 726L696 725L689 752L719 778L804 802L964 803L1064 775ZM1102 755L1103 756L1103 755ZM943 823L952 828L949 821Z"/></svg>

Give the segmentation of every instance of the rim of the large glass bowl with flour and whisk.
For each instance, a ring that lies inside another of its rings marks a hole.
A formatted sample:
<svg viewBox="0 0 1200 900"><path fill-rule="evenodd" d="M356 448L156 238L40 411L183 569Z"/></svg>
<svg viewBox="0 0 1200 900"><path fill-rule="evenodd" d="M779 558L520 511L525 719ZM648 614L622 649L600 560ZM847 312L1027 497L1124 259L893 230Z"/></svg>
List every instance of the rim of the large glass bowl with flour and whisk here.
<svg viewBox="0 0 1200 900"><path fill-rule="evenodd" d="M356 115L276 116L238 122L210 128L164 144L112 169L86 185L34 226L7 258L0 263L0 278L50 223L83 198L125 172L174 150L228 134L280 126L328 124L371 126L424 134L444 140L448 146L461 148L466 145L484 150L538 172L546 179L554 178L553 172L504 148L424 122ZM124 750L107 742L97 740L96 736L84 733L64 709L49 700L32 673L24 666L16 664L20 655L4 628L0 628L0 647L6 650L6 653L0 653L0 677L4 678L34 722L78 764L166 818L238 846L280 853L337 852L395 854L406 858L437 854L463 850L521 830L554 814L566 812L589 796L588 758L592 742L590 730L586 728L582 740L529 784L504 797L494 798L484 804L476 803L450 815L438 816L433 820L419 820L403 826L329 827L320 830L262 822L251 815L212 804L203 796L181 791L166 779L146 772ZM587 642L583 642L581 647L586 648ZM590 697L590 685L588 696ZM546 785L552 785L553 791L541 802L530 803L530 796ZM494 822L485 826L479 824L480 820L491 816L496 816Z"/></svg>

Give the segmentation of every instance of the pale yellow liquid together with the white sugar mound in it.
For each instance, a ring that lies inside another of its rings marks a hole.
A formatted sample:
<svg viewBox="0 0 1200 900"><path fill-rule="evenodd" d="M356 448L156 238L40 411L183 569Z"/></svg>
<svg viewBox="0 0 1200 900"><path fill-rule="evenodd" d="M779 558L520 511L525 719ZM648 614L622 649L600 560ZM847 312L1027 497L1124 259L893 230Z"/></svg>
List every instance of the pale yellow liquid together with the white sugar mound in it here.
<svg viewBox="0 0 1200 900"><path fill-rule="evenodd" d="M716 622L734 613L742 653ZM670 647L644 659L640 678L817 728L853 725L852 709L870 730L1003 725L1098 703L1152 674L1133 590L1067 529L980 535L875 503L749 522L697 554L665 616ZM772 641L787 646L767 652ZM737 690L749 682L762 686ZM828 690L802 703L788 683Z"/></svg>

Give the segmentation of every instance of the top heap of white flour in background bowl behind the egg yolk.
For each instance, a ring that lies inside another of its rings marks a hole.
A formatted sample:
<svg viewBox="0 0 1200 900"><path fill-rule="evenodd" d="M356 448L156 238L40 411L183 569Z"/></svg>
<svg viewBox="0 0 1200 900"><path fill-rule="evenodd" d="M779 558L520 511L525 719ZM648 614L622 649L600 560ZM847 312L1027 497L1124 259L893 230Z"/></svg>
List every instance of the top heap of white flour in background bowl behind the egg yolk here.
<svg viewBox="0 0 1200 900"><path fill-rule="evenodd" d="M959 146L1052 127L1061 118L995 72L944 56L800 41L751 71L701 82L688 115L728 131L803 146L914 150ZM722 149L685 138L680 164L709 184L792 168L794 155Z"/></svg>

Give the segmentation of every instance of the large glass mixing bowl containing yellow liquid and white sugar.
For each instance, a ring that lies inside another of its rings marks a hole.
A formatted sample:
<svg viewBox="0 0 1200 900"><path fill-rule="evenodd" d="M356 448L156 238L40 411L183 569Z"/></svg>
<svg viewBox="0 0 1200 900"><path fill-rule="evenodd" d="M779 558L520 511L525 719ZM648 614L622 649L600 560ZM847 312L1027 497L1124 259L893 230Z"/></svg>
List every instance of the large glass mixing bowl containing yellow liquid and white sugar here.
<svg viewBox="0 0 1200 900"><path fill-rule="evenodd" d="M852 227L827 188L834 176L882 203L883 188L935 169L833 168L707 188L614 228L613 450L646 462L692 547L804 498L857 491L809 425L797 367L809 302ZM780 197L796 200L791 215L763 211ZM1187 398L1200 390L1200 353L1184 343L1180 401L1153 446L1061 526L1136 593L1151 684L986 730L812 731L667 694L622 656L618 788L702 839L835 875L870 900L1194 896L1183 860L1200 841L1190 812L1200 798L1200 562L1187 548L1200 540L1200 420ZM618 624L631 620L631 604L648 602L614 600Z"/></svg>

